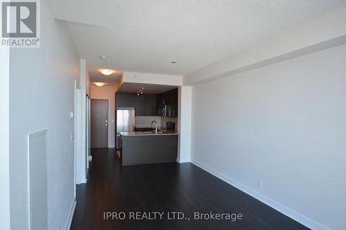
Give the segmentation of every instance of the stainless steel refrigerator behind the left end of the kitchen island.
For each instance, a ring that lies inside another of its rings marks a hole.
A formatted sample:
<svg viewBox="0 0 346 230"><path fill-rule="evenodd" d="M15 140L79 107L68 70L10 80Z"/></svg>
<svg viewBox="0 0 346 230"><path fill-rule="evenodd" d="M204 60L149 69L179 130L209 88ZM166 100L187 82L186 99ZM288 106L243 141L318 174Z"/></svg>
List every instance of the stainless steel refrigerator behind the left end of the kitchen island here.
<svg viewBox="0 0 346 230"><path fill-rule="evenodd" d="M116 109L116 148L122 146L120 132L134 131L134 108L117 108Z"/></svg>

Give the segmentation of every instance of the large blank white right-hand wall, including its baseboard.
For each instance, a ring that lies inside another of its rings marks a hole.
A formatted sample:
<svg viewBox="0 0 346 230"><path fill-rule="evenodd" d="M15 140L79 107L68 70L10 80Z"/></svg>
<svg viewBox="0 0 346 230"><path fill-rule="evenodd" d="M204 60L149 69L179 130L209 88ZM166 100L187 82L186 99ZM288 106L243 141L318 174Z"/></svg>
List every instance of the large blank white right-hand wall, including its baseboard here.
<svg viewBox="0 0 346 230"><path fill-rule="evenodd" d="M346 229L345 63L343 45L193 86L192 161L308 227Z"/></svg>

